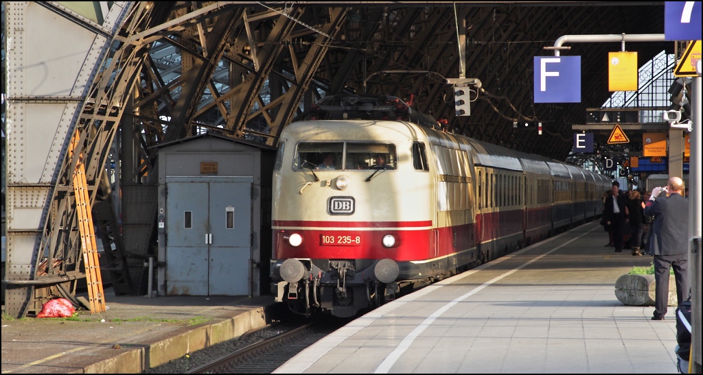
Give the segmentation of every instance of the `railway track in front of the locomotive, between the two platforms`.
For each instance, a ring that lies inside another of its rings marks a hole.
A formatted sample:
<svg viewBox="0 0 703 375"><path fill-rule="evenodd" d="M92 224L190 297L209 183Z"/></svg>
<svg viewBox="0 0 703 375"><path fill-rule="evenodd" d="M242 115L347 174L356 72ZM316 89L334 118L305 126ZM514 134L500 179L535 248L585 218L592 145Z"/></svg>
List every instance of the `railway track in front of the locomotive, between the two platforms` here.
<svg viewBox="0 0 703 375"><path fill-rule="evenodd" d="M347 320L307 322L195 367L186 374L271 374L297 353L346 322Z"/></svg>

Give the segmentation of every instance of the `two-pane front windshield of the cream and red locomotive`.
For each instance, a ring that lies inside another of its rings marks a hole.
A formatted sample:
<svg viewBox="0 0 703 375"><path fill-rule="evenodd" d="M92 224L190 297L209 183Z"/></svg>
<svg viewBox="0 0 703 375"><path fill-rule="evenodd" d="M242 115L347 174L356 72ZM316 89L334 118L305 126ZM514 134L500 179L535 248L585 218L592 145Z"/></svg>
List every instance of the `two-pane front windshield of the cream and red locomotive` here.
<svg viewBox="0 0 703 375"><path fill-rule="evenodd" d="M396 169L396 147L391 143L298 143L293 169L303 171L311 164L315 170Z"/></svg>

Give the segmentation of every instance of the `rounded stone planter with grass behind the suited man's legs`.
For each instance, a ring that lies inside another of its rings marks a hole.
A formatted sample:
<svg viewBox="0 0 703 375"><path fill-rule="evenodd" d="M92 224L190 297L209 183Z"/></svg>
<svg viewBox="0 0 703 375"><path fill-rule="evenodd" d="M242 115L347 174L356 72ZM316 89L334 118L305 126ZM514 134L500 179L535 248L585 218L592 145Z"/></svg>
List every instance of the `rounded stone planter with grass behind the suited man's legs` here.
<svg viewBox="0 0 703 375"><path fill-rule="evenodd" d="M615 296L624 305L654 305L654 275L622 275L615 282ZM669 275L669 306L678 305L676 278Z"/></svg>

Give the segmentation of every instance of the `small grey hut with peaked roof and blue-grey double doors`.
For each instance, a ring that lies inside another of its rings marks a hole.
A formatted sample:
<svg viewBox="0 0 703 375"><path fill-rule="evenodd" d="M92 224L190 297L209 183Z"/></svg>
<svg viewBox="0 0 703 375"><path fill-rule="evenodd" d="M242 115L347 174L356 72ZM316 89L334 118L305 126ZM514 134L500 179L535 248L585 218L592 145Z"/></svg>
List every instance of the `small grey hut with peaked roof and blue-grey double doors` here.
<svg viewBox="0 0 703 375"><path fill-rule="evenodd" d="M158 295L269 291L275 158L274 147L217 133L159 146Z"/></svg>

